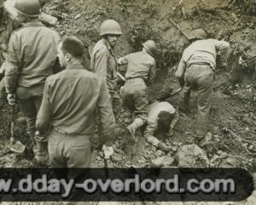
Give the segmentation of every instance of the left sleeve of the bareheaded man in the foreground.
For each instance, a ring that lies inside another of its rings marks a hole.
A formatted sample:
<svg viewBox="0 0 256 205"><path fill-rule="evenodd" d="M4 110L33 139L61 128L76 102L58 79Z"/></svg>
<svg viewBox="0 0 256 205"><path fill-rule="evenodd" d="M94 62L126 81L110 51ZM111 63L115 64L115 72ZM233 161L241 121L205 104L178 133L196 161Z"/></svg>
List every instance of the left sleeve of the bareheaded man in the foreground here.
<svg viewBox="0 0 256 205"><path fill-rule="evenodd" d="M44 84L44 95L41 107L38 111L38 117L36 122L36 127L40 134L44 134L49 130L51 122L51 111L49 104L49 78L46 79Z"/></svg>

